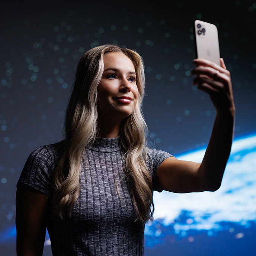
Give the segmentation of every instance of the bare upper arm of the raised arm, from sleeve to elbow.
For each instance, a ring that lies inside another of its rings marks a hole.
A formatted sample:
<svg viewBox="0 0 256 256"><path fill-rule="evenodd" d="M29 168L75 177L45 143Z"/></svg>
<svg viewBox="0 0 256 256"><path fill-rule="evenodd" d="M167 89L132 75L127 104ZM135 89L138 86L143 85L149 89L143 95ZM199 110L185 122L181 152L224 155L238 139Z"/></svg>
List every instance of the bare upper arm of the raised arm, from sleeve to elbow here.
<svg viewBox="0 0 256 256"><path fill-rule="evenodd" d="M157 169L157 189L176 193L204 191L199 163L181 161L175 157L165 159Z"/></svg>

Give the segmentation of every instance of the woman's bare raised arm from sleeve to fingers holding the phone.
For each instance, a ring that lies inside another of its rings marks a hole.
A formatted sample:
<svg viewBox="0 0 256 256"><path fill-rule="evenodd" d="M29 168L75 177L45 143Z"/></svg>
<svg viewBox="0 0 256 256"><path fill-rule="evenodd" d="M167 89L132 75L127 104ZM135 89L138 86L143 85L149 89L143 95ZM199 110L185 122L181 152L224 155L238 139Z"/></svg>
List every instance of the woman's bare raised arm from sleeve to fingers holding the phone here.
<svg viewBox="0 0 256 256"><path fill-rule="evenodd" d="M235 106L230 73L221 58L221 66L204 59L196 59L192 75L198 89L208 93L217 115L211 138L202 163L179 161L169 157L157 170L157 187L177 193L215 191L221 180L231 150L234 131Z"/></svg>

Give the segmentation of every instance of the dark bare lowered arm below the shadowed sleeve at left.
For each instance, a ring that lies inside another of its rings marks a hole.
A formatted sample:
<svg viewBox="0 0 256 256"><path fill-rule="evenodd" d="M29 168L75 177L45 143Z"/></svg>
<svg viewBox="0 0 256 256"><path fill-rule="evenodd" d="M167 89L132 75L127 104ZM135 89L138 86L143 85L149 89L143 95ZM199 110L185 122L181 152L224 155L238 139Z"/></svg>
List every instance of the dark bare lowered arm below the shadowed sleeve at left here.
<svg viewBox="0 0 256 256"><path fill-rule="evenodd" d="M16 193L17 256L42 255L48 195L20 184Z"/></svg>

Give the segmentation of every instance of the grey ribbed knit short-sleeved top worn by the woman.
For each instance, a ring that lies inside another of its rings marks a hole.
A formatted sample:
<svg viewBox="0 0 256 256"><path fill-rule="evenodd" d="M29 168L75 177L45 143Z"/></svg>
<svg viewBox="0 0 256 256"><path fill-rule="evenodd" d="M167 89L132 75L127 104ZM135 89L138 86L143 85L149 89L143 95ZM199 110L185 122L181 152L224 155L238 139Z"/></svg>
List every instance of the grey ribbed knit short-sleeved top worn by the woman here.
<svg viewBox="0 0 256 256"><path fill-rule="evenodd" d="M51 200L51 177L58 163L59 143L41 146L31 153L18 184L26 184L48 194ZM122 167L119 137L97 138L83 155L80 195L71 218L49 214L47 229L53 256L143 255L145 223L137 218L126 179L119 186L115 177ZM154 180L156 170L169 153L147 149L147 164ZM121 172L119 177L124 176ZM119 179L118 179L119 180ZM51 210L50 210L51 212Z"/></svg>

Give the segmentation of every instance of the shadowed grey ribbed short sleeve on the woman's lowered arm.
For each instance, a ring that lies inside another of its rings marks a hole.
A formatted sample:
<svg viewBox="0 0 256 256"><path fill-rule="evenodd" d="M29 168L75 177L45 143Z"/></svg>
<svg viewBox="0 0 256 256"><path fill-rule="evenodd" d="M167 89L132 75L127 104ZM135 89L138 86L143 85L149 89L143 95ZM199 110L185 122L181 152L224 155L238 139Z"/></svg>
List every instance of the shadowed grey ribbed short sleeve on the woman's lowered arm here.
<svg viewBox="0 0 256 256"><path fill-rule="evenodd" d="M22 170L17 185L25 184L42 193L49 194L49 183L54 164L47 146L33 151Z"/></svg>

